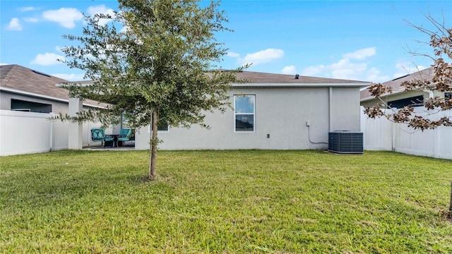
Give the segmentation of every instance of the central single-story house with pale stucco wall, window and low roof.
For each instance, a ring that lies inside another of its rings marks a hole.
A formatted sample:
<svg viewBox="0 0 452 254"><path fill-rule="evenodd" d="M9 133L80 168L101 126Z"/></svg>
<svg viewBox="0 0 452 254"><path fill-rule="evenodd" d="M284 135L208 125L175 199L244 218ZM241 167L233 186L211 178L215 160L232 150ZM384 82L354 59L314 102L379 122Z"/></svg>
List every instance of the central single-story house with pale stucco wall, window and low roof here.
<svg viewBox="0 0 452 254"><path fill-rule="evenodd" d="M370 83L244 71L233 84L233 109L206 113L191 128L161 126L162 150L326 149L328 132L360 131L359 89ZM135 147L149 149L150 128L136 131Z"/></svg>

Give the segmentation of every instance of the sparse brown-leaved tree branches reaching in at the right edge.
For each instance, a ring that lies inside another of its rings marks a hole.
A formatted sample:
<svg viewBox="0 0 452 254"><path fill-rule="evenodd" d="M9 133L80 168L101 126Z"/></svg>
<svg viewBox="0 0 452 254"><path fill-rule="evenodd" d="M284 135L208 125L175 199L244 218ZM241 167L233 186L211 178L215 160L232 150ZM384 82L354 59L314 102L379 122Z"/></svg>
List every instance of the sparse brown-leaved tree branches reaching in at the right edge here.
<svg viewBox="0 0 452 254"><path fill-rule="evenodd" d="M420 90L431 92L431 94L439 92L440 95L424 99L424 102L422 102L426 111L433 115L438 111L452 111L452 97L441 96L443 92L452 92L452 63L450 62L452 60L452 28L447 28L444 22L439 23L432 16L427 16L427 20L432 23L434 30L411 23L410 25L429 35L429 46L433 49L433 55L418 52L410 53L432 59L434 75L432 79L414 79L405 81L402 85L405 87L405 91ZM413 104L402 109L391 109L391 106L384 99L386 95L393 92L391 87L374 83L368 89L372 96L379 99L378 105L364 108L364 112L371 118L386 116L393 122L408 123L408 126L422 131L439 126L452 127L452 114L437 119L433 117L424 118L416 114L414 110L414 107L419 106L419 102L413 102ZM383 109L388 110L383 111Z"/></svg>

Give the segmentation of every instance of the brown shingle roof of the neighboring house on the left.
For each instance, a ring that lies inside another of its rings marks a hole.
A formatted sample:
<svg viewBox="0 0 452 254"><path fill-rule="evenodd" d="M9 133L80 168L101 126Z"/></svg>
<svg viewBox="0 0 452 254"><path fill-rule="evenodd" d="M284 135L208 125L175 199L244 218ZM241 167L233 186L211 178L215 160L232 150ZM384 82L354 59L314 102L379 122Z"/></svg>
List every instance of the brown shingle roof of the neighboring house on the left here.
<svg viewBox="0 0 452 254"><path fill-rule="evenodd" d="M56 84L68 82L68 80L17 64L0 66L0 90L6 92L67 102L69 91L57 87ZM89 99L86 99L83 103L100 106L98 102Z"/></svg>

